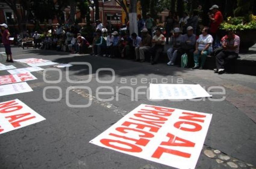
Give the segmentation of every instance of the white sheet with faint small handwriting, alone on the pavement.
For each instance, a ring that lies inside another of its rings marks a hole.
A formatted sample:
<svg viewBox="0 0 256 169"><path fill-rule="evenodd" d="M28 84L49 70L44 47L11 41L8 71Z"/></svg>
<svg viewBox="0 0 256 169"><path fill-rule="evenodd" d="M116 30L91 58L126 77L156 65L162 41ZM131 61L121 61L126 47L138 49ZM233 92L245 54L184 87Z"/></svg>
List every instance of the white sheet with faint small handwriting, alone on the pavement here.
<svg viewBox="0 0 256 169"><path fill-rule="evenodd" d="M200 85L150 84L150 99L195 99L211 97Z"/></svg>

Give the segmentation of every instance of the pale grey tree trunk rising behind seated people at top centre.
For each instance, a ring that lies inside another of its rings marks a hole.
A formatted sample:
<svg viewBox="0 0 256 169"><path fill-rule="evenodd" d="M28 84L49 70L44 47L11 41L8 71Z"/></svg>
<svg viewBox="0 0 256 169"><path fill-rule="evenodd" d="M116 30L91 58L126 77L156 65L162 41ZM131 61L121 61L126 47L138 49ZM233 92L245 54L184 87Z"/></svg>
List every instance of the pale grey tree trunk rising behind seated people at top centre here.
<svg viewBox="0 0 256 169"><path fill-rule="evenodd" d="M138 34L138 22L137 22L137 0L130 0L129 7L129 18L130 18L130 35L135 32Z"/></svg>

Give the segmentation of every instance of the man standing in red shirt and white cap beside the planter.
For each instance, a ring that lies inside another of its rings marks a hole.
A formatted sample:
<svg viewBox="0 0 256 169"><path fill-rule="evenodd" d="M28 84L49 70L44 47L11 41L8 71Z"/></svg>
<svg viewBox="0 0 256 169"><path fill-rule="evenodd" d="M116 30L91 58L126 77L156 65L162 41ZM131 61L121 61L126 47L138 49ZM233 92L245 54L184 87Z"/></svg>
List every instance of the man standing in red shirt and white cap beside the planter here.
<svg viewBox="0 0 256 169"><path fill-rule="evenodd" d="M217 31L220 27L221 22L223 21L223 16L222 13L219 11L219 7L218 5L213 5L209 10L211 10L211 12L213 13L213 15L210 15L210 20L211 20L211 24L210 24L210 34L213 37L213 45L216 42L216 35L217 35Z"/></svg>

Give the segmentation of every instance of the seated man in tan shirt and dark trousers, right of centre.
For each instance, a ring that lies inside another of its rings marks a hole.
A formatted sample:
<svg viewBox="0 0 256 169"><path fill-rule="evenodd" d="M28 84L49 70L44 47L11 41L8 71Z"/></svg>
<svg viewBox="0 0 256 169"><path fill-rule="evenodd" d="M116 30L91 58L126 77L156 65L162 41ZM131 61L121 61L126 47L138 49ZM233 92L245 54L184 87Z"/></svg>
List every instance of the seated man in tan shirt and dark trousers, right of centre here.
<svg viewBox="0 0 256 169"><path fill-rule="evenodd" d="M157 28L155 32L155 36L152 38L152 53L153 57L151 60L151 64L157 64L158 58L160 54L164 51L165 38L164 35L161 34L161 29Z"/></svg>

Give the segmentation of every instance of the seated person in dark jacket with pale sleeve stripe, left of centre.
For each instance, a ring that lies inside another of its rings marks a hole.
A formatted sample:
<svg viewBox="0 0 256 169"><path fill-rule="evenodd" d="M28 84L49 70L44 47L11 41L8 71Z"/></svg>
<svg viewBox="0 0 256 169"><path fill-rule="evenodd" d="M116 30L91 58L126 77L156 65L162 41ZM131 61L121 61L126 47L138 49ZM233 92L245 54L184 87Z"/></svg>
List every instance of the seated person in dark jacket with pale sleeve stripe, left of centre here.
<svg viewBox="0 0 256 169"><path fill-rule="evenodd" d="M95 45L94 45L94 54L95 56L102 56L103 54L105 54L105 51L106 51L106 48L107 48L107 43L106 43L106 40L104 39L104 37L102 37L102 33L100 30L98 30L96 32L97 34L97 41L95 42Z"/></svg>

